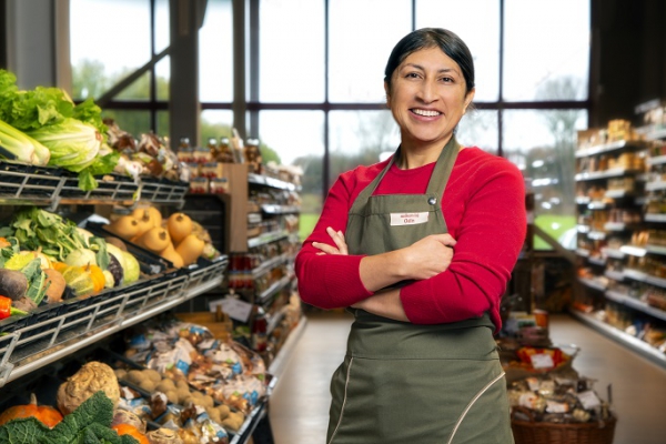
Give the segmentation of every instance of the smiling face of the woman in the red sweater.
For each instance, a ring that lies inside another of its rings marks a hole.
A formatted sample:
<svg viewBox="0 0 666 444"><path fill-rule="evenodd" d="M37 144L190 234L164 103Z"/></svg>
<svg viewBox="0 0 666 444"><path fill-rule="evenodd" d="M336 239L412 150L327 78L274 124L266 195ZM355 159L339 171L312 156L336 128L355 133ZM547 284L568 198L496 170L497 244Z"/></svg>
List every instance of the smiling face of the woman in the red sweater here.
<svg viewBox="0 0 666 444"><path fill-rule="evenodd" d="M443 148L474 98L458 64L438 48L417 50L396 68L386 98L405 149Z"/></svg>

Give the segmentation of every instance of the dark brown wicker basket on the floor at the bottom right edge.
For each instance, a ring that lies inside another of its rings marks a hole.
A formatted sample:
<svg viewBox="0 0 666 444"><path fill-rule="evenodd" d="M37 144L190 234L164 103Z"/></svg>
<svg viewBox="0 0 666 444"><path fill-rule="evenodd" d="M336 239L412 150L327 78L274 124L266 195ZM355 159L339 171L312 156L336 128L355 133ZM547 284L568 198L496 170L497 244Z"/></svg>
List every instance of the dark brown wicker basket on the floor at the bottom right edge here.
<svg viewBox="0 0 666 444"><path fill-rule="evenodd" d="M531 421L518 421L514 413L519 411ZM617 420L599 423L555 424L536 422L527 408L513 407L511 428L515 444L613 444Z"/></svg>

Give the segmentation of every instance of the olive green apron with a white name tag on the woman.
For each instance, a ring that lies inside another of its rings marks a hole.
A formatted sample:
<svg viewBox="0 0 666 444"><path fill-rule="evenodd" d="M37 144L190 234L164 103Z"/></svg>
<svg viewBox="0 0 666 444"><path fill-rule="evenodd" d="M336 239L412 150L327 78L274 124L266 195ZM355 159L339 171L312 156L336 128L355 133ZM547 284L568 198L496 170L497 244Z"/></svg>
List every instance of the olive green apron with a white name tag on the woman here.
<svg viewBox="0 0 666 444"><path fill-rule="evenodd" d="M372 195L395 159L354 201L350 254L379 254L446 233L440 200L460 145L444 147L425 194ZM415 325L351 310L333 374L327 444L512 444L504 372L488 314Z"/></svg>

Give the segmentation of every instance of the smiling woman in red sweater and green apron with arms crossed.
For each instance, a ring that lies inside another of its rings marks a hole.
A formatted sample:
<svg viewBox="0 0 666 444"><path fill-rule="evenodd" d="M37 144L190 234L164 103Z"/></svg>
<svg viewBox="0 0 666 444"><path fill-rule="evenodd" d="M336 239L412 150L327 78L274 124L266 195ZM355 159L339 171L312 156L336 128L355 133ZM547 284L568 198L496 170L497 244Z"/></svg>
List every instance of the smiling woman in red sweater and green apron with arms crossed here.
<svg viewBox="0 0 666 444"><path fill-rule="evenodd" d="M455 140L475 89L453 32L404 37L384 89L400 147L340 175L295 261L304 302L355 316L326 442L513 443L493 332L525 239L523 178Z"/></svg>

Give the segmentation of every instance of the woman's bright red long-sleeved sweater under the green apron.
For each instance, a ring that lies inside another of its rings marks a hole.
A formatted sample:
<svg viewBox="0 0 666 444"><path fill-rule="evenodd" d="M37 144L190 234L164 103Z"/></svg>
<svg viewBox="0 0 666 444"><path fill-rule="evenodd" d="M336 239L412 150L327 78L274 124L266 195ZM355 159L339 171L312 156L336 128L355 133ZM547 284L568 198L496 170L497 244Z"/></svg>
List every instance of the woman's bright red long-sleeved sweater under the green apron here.
<svg viewBox="0 0 666 444"><path fill-rule="evenodd" d="M387 162L343 173L329 191L320 220L295 259L304 302L336 309L372 295L359 273L363 255L317 255L312 242L333 245L326 226L345 231L354 200ZM412 170L393 165L374 194L424 193L434 165ZM446 184L442 211L448 233L457 241L453 260L445 272L401 289L405 313L415 324L440 324L487 311L500 329L500 300L525 241L523 176L506 159L465 148Z"/></svg>

